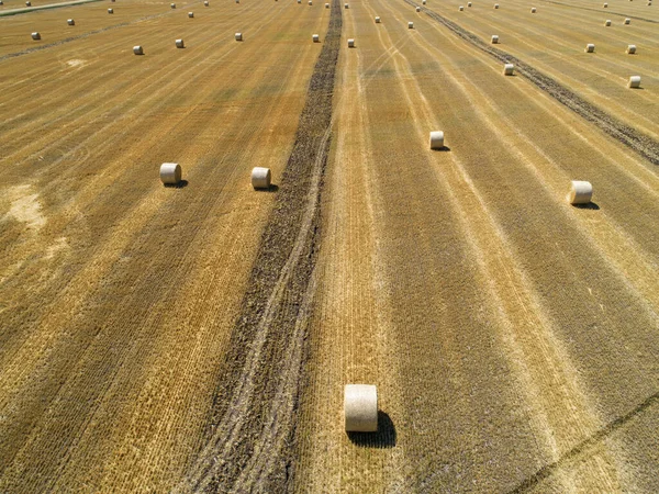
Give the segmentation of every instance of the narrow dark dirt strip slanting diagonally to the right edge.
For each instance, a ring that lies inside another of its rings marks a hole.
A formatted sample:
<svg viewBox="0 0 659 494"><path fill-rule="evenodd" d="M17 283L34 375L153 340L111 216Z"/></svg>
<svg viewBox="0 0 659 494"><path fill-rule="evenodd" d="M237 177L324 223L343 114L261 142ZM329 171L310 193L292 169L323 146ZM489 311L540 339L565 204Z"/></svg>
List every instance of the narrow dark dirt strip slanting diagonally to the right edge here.
<svg viewBox="0 0 659 494"><path fill-rule="evenodd" d="M515 74L524 76L539 89L548 93L551 98L565 104L574 113L584 117L589 122L592 122L610 136L630 147L640 156L650 161L652 165L659 165L659 142L623 124L615 117L611 116L606 112L600 110L599 108L583 100L566 87L561 86L559 82L557 82L549 76L541 74L528 64L522 61L521 59L501 49L492 47L477 35L460 27L455 22L449 21L448 19L426 9L425 7L418 5L412 0L404 1L405 3L409 3L411 5L421 7L428 16L444 24L446 27L448 27L455 34L460 36L462 40L471 43L473 46L480 48L481 50L496 58L498 60L514 64Z"/></svg>

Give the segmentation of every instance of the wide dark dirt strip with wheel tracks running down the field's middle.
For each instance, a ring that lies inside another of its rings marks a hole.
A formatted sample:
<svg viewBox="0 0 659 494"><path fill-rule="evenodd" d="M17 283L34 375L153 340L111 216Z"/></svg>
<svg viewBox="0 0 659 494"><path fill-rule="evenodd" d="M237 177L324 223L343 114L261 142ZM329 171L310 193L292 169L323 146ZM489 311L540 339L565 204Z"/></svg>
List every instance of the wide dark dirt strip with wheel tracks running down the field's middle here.
<svg viewBox="0 0 659 494"><path fill-rule="evenodd" d="M340 30L340 3L334 0L295 143L220 373L208 441L178 491L292 490Z"/></svg>

